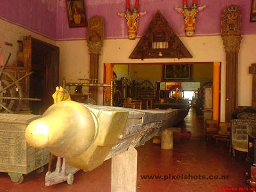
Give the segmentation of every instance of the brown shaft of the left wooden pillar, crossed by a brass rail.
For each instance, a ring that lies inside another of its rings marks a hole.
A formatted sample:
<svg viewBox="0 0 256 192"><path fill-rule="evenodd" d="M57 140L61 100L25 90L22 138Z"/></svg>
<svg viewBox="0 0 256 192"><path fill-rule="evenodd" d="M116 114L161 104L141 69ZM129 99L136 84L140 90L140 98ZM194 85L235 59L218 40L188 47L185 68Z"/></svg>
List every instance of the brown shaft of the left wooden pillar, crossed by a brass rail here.
<svg viewBox="0 0 256 192"><path fill-rule="evenodd" d="M98 79L99 77L99 54L90 53L90 79ZM89 97L95 100L97 103L98 100L98 88L89 87Z"/></svg>

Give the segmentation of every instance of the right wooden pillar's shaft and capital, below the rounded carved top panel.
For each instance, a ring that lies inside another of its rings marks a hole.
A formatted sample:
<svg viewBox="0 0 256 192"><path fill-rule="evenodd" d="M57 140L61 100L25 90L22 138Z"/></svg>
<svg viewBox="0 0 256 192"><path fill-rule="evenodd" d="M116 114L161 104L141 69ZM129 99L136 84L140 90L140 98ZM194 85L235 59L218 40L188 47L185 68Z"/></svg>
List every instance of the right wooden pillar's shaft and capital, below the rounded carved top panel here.
<svg viewBox="0 0 256 192"><path fill-rule="evenodd" d="M237 63L241 36L223 36L226 50L226 122L237 108Z"/></svg>

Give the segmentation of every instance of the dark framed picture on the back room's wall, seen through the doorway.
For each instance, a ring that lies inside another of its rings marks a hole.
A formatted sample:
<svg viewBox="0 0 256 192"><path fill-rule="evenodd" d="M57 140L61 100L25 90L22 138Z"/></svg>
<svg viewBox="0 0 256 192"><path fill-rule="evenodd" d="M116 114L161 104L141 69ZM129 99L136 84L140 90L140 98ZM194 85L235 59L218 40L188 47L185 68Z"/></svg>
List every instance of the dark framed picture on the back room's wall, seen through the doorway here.
<svg viewBox="0 0 256 192"><path fill-rule="evenodd" d="M181 65L164 65L163 79L190 79L190 65L181 64Z"/></svg>

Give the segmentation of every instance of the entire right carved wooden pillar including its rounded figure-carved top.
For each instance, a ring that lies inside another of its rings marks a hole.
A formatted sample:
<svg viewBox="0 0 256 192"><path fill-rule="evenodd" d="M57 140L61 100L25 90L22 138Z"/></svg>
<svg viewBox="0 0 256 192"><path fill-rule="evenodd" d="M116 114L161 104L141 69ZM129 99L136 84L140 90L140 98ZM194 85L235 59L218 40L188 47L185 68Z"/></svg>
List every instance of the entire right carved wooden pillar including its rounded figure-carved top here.
<svg viewBox="0 0 256 192"><path fill-rule="evenodd" d="M221 36L226 51L226 122L237 108L237 65L241 43L241 11L228 6L221 15Z"/></svg>

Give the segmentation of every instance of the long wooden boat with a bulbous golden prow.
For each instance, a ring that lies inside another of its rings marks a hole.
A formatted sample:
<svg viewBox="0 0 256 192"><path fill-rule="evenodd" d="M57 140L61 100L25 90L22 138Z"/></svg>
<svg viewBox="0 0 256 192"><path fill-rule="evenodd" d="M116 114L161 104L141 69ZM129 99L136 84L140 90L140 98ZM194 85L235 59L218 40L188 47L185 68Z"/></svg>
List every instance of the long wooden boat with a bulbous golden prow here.
<svg viewBox="0 0 256 192"><path fill-rule="evenodd" d="M31 122L25 136L32 147L47 148L71 166L90 171L130 145L144 145L187 114L187 109L137 110L63 101Z"/></svg>

